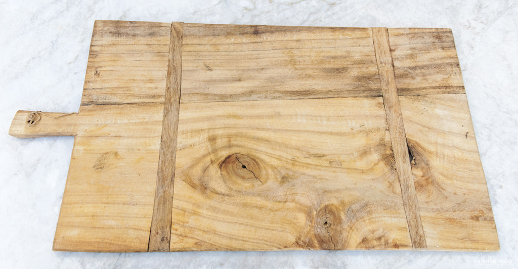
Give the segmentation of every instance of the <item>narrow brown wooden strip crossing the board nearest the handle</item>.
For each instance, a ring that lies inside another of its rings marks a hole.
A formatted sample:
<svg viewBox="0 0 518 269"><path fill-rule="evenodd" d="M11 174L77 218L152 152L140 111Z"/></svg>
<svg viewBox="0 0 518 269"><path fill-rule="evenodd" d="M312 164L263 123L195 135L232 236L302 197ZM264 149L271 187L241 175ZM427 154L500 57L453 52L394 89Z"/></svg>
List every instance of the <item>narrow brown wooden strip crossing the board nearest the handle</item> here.
<svg viewBox="0 0 518 269"><path fill-rule="evenodd" d="M169 251L182 72L183 23L171 24L159 166L148 251Z"/></svg>

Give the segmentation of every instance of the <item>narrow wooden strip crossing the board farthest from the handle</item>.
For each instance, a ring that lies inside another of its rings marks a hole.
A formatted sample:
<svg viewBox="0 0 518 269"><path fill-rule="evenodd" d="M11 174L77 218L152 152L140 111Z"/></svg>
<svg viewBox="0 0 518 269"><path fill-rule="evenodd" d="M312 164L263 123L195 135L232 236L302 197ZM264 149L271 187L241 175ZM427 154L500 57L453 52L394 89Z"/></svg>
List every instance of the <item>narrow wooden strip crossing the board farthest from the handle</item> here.
<svg viewBox="0 0 518 269"><path fill-rule="evenodd" d="M394 64L389 43L389 32L385 27L372 28L372 41L378 62L378 72L383 93L383 103L387 115L387 124L392 139L392 148L396 160L397 174L401 186L403 206L407 215L408 230L414 249L425 249L426 240L415 195L415 185L408 155L407 139L394 74Z"/></svg>

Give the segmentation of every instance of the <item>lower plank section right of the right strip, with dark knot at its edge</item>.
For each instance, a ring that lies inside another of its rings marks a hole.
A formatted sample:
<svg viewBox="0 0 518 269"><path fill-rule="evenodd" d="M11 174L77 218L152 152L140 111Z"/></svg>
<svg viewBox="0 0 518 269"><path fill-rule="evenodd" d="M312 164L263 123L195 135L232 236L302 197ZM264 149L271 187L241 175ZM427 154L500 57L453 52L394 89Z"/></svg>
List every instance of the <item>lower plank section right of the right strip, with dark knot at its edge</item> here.
<svg viewBox="0 0 518 269"><path fill-rule="evenodd" d="M465 94L400 96L428 249L499 249Z"/></svg>

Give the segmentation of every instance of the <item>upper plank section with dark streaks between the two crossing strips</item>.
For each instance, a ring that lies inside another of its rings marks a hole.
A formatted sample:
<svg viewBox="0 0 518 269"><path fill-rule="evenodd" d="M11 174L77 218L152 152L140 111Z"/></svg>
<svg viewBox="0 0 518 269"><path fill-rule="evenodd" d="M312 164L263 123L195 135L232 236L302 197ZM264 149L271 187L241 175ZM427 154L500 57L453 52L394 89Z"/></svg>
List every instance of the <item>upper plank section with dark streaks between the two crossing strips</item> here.
<svg viewBox="0 0 518 269"><path fill-rule="evenodd" d="M181 102L381 96L369 28L185 24Z"/></svg>

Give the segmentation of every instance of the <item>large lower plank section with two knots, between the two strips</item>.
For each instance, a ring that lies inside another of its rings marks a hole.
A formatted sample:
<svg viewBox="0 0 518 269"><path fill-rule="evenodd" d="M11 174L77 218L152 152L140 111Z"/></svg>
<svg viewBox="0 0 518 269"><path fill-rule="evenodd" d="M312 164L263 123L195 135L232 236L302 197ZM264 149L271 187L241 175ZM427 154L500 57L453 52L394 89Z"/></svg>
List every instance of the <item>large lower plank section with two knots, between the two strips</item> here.
<svg viewBox="0 0 518 269"><path fill-rule="evenodd" d="M181 103L172 205L171 251L411 249L381 97Z"/></svg>

